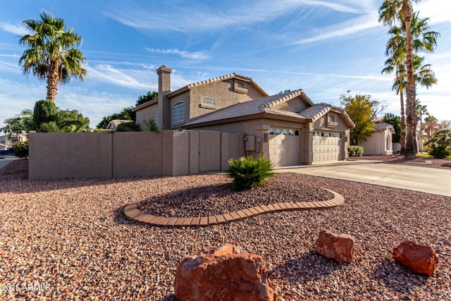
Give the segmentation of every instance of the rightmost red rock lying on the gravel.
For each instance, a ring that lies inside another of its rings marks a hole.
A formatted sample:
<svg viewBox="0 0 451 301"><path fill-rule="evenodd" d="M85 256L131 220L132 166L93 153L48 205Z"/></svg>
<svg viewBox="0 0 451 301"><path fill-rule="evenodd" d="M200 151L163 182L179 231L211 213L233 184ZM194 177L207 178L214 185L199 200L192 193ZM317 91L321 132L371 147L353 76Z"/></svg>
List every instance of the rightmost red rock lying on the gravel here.
<svg viewBox="0 0 451 301"><path fill-rule="evenodd" d="M432 247L418 245L412 240L401 242L393 249L393 259L419 274L432 276L438 257Z"/></svg>

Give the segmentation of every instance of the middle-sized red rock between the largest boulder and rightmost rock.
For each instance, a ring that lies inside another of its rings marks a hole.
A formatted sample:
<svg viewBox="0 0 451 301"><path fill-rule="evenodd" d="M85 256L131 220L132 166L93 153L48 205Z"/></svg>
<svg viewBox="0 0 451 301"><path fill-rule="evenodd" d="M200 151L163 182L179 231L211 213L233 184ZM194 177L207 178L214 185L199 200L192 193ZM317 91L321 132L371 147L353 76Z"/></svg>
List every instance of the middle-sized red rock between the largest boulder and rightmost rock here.
<svg viewBox="0 0 451 301"><path fill-rule="evenodd" d="M316 241L316 252L337 262L352 262L355 240L351 235L322 230Z"/></svg>

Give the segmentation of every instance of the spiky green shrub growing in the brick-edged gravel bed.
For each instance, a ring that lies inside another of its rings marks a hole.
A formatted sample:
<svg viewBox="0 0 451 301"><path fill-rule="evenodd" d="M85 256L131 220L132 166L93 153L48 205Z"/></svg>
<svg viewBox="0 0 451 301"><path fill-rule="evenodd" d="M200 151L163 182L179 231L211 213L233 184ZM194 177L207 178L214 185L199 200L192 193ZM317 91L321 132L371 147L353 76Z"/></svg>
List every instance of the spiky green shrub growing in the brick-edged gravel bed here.
<svg viewBox="0 0 451 301"><path fill-rule="evenodd" d="M253 156L230 159L226 173L233 178L233 190L245 190L264 186L266 178L274 176L272 171L271 161L260 154L259 159L254 159Z"/></svg>

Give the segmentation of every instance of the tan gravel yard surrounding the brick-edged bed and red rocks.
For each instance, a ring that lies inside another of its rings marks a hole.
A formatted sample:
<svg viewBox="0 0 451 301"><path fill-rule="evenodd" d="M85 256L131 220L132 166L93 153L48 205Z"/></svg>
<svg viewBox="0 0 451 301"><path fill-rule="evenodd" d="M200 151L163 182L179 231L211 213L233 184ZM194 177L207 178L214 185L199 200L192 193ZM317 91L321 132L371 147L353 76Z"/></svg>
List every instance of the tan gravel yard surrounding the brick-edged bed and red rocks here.
<svg viewBox="0 0 451 301"><path fill-rule="evenodd" d="M287 173L280 176L287 187L335 190L345 204L158 228L128 221L123 207L230 179L30 181L26 171L25 160L0 170L0 300L176 300L178 263L226 242L264 258L278 300L450 300L451 197ZM321 229L354 236L352 264L314 252ZM393 247L403 240L435 249L432 277L393 262Z"/></svg>

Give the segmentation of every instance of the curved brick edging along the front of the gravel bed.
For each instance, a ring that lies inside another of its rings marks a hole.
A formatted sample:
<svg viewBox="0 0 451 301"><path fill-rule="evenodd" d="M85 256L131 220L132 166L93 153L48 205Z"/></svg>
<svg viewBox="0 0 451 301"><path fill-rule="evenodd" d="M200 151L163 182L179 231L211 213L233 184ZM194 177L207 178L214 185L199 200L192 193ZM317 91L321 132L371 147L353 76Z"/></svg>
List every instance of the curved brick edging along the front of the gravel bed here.
<svg viewBox="0 0 451 301"><path fill-rule="evenodd" d="M328 192L333 193L333 198L327 201L319 202L283 202L269 205L261 205L250 207L235 212L228 212L226 214L218 214L215 216L202 217L164 217L145 214L137 209L137 204L132 203L124 207L125 216L140 223L148 223L152 226L165 227L189 227L189 226L213 226L221 223L230 223L232 221L241 221L242 219L249 219L249 217L257 216L259 214L266 214L278 211L291 211L302 209L322 209L340 206L345 202L345 198L338 192L323 188Z"/></svg>

